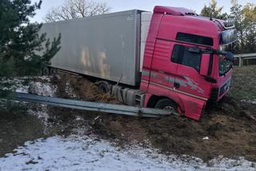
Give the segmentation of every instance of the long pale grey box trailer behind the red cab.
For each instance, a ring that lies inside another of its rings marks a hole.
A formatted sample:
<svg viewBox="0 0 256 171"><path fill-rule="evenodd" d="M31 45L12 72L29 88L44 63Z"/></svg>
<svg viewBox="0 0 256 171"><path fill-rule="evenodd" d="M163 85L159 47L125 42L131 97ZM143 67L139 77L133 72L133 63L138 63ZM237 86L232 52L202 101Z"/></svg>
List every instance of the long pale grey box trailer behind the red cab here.
<svg viewBox="0 0 256 171"><path fill-rule="evenodd" d="M126 85L139 85L152 14L128 10L43 24L41 33L58 37L61 50L51 67Z"/></svg>

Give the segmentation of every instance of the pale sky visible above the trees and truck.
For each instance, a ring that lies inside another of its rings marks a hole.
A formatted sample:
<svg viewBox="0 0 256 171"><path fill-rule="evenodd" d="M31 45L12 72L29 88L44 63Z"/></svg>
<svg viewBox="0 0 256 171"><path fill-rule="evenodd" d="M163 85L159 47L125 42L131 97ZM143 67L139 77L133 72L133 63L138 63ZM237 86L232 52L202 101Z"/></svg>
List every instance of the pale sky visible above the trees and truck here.
<svg viewBox="0 0 256 171"><path fill-rule="evenodd" d="M39 0L32 0L32 2L39 2ZM37 11L32 21L43 22L43 18L51 8L62 6L64 2L65 0L42 0L41 10ZM111 8L110 12L134 9L152 11L154 6L176 6L196 10L200 14L203 6L207 5L210 0L98 0L98 2L106 2ZM223 6L223 12L230 12L230 0L217 0L217 2L218 6ZM238 3L242 5L246 2L256 2L256 0L238 0Z"/></svg>

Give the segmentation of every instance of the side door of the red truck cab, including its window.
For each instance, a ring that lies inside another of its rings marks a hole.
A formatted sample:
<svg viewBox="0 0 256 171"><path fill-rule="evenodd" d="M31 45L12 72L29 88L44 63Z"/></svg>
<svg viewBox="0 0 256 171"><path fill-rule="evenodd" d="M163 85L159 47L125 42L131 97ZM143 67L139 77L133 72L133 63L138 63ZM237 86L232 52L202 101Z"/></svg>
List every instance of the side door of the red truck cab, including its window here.
<svg viewBox="0 0 256 171"><path fill-rule="evenodd" d="M190 97L207 99L210 96L211 83L199 74L202 54L190 52L191 45L174 45L171 61L177 63L174 89ZM199 47L200 48L200 47Z"/></svg>

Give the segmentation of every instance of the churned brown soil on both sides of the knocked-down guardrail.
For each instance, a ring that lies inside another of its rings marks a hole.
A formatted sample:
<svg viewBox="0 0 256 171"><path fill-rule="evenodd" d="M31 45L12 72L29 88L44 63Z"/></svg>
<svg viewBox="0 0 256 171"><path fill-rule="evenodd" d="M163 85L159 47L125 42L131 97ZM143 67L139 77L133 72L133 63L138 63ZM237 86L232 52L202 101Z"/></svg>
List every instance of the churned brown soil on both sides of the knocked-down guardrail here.
<svg viewBox="0 0 256 171"><path fill-rule="evenodd" d="M118 103L85 78L60 74L60 78L54 80L59 96L67 97L65 85L70 82L79 99ZM72 110L89 121L94 133L118 141L120 145L134 141L146 145L150 141L162 153L190 154L206 161L218 155L256 161L255 111L256 105L242 103L234 96L209 106L200 121L176 116L155 119ZM62 113L70 113L70 110Z"/></svg>

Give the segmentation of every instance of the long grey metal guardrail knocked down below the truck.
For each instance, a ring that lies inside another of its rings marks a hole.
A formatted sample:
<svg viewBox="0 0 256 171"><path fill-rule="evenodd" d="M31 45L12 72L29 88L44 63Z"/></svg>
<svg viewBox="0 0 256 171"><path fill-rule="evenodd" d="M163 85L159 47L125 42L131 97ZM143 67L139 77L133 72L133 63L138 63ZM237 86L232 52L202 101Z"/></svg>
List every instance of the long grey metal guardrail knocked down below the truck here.
<svg viewBox="0 0 256 171"><path fill-rule="evenodd" d="M10 92L9 92L10 93ZM138 117L163 117L170 115L170 111L164 109L151 109L134 107L129 105L114 105L108 103L90 102L70 100L58 97L38 96L30 93L11 93L11 96L6 95L6 92L0 91L0 98L11 99L14 101L35 102L45 105L52 105L57 107L64 107L70 109L82 109L87 111L102 112L102 113L116 113L122 115L132 115Z"/></svg>

